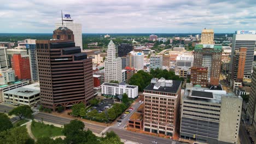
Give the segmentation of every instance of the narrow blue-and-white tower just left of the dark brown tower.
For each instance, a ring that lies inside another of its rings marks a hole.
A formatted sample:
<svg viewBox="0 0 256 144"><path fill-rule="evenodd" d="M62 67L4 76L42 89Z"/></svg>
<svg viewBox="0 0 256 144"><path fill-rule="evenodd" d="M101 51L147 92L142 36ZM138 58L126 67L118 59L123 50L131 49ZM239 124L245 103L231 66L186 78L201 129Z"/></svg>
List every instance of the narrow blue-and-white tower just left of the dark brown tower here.
<svg viewBox="0 0 256 144"><path fill-rule="evenodd" d="M37 51L36 51L36 40L26 39L26 49L28 57L30 58L30 74L31 81L37 82L38 79L38 67L37 67Z"/></svg>

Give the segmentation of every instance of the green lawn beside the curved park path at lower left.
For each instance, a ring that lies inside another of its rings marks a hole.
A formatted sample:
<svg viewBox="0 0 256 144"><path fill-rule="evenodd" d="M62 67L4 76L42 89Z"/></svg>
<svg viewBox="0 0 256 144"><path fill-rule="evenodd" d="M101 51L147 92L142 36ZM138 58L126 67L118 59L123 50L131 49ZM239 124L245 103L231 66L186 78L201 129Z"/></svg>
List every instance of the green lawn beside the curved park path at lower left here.
<svg viewBox="0 0 256 144"><path fill-rule="evenodd" d="M34 124L31 124L31 131L37 139L39 137L53 137L63 135L62 128L38 122L34 122Z"/></svg>

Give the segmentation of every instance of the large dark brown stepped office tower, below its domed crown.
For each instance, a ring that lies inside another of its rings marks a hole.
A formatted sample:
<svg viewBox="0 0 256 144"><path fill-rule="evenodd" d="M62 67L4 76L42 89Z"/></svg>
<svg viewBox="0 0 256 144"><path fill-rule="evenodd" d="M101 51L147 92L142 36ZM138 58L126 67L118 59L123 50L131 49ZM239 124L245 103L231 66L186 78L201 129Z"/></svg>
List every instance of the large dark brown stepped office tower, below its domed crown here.
<svg viewBox="0 0 256 144"><path fill-rule="evenodd" d="M94 97L92 59L72 40L37 40L36 46L41 104L54 111L88 104Z"/></svg>

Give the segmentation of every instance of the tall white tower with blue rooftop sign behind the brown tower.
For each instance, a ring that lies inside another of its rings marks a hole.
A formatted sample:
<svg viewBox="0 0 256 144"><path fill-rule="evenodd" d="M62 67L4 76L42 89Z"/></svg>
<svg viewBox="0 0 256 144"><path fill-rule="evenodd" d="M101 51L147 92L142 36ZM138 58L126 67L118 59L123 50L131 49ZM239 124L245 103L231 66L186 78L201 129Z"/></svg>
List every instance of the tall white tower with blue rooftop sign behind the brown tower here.
<svg viewBox="0 0 256 144"><path fill-rule="evenodd" d="M65 14L62 22L55 23L55 29L59 27L67 27L73 31L75 46L80 46L83 50L83 41L82 41L82 24L75 23L69 14Z"/></svg>

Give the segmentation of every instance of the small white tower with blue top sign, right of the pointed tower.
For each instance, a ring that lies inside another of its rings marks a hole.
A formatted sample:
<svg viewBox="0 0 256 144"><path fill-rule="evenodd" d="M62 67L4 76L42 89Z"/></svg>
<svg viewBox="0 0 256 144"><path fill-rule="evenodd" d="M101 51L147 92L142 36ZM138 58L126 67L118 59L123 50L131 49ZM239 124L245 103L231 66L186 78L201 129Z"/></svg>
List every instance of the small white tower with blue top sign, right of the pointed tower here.
<svg viewBox="0 0 256 144"><path fill-rule="evenodd" d="M130 54L132 55L132 62L133 68L136 71L144 69L144 54L141 52L131 51Z"/></svg>

